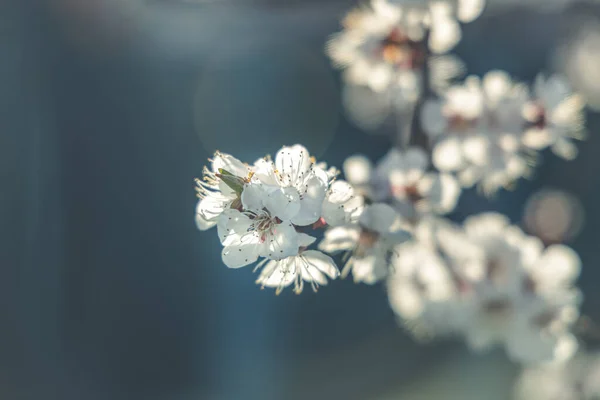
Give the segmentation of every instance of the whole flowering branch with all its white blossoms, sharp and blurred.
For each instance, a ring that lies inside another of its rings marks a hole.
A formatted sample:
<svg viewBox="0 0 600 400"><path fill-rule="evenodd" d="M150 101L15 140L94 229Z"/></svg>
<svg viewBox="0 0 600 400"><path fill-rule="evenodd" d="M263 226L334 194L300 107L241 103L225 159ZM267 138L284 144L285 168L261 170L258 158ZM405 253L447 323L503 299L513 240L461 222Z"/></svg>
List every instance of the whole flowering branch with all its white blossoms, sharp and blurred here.
<svg viewBox="0 0 600 400"><path fill-rule="evenodd" d="M543 150L575 158L573 140L584 136L583 97L561 76L540 74L531 87L503 71L453 81L463 66L448 52L460 23L482 9L482 0L370 0L351 11L326 46L343 70L345 105L364 126L389 111L409 118L399 124L408 140L393 140L376 164L347 158L345 181L300 145L252 165L217 152L197 181L196 223L217 226L228 267L256 263L262 287L279 293L293 284L300 293L308 283L316 291L350 274L384 282L416 337L460 337L477 351L503 346L518 363L558 368L579 348L581 266L562 244L580 227L575 202L555 195L528 206L528 232L538 237L496 213L462 225L442 217L463 188L510 187Z"/></svg>

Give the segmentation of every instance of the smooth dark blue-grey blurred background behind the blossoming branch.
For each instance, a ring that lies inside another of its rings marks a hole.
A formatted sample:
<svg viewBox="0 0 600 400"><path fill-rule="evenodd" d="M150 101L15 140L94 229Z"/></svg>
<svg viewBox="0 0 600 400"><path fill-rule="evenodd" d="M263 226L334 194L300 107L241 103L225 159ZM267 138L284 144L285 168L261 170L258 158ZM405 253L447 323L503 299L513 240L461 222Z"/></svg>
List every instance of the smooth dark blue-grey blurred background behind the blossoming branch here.
<svg viewBox="0 0 600 400"><path fill-rule="evenodd" d="M456 48L469 73L565 70L600 99L600 4L489 0ZM550 4L551 3L551 4ZM415 343L381 286L259 290L194 224L216 150L302 143L341 166L383 136L353 127L323 54L346 0L0 2L0 397L505 400L501 351ZM551 5L553 7L548 7ZM600 128L572 162L451 215L523 219L542 187L585 209L583 312L600 320Z"/></svg>

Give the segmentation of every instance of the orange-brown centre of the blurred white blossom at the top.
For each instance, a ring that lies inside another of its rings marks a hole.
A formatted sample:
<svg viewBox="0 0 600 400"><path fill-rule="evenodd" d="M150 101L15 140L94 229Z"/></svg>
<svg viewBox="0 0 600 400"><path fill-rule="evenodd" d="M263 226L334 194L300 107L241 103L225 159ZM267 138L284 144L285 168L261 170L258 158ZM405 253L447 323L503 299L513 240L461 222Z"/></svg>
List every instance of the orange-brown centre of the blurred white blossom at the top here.
<svg viewBox="0 0 600 400"><path fill-rule="evenodd" d="M417 69L423 65L422 44L409 39L400 29L394 28L379 45L380 55L385 62L406 69Z"/></svg>

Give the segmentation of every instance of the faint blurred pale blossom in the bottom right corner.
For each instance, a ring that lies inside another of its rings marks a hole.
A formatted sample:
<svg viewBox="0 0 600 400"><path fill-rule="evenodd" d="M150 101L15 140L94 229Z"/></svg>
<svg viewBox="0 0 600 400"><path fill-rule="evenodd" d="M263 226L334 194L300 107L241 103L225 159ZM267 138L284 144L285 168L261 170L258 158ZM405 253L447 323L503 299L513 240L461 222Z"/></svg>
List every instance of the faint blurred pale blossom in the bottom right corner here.
<svg viewBox="0 0 600 400"><path fill-rule="evenodd" d="M581 352L567 363L523 370L516 400L594 400L600 398L600 356Z"/></svg>

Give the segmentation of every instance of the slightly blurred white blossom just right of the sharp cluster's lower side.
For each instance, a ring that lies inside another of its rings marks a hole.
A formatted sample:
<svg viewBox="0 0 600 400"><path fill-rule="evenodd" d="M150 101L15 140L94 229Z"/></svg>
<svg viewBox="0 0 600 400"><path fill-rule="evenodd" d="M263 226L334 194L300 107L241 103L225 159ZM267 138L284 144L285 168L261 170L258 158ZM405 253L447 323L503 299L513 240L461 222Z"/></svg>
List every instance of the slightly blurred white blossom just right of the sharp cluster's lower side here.
<svg viewBox="0 0 600 400"><path fill-rule="evenodd" d="M327 253L345 252L347 261L342 277L352 271L355 282L374 284L389 271L394 246L407 238L399 229L400 216L386 204L364 208L358 223L325 231L319 249Z"/></svg>

